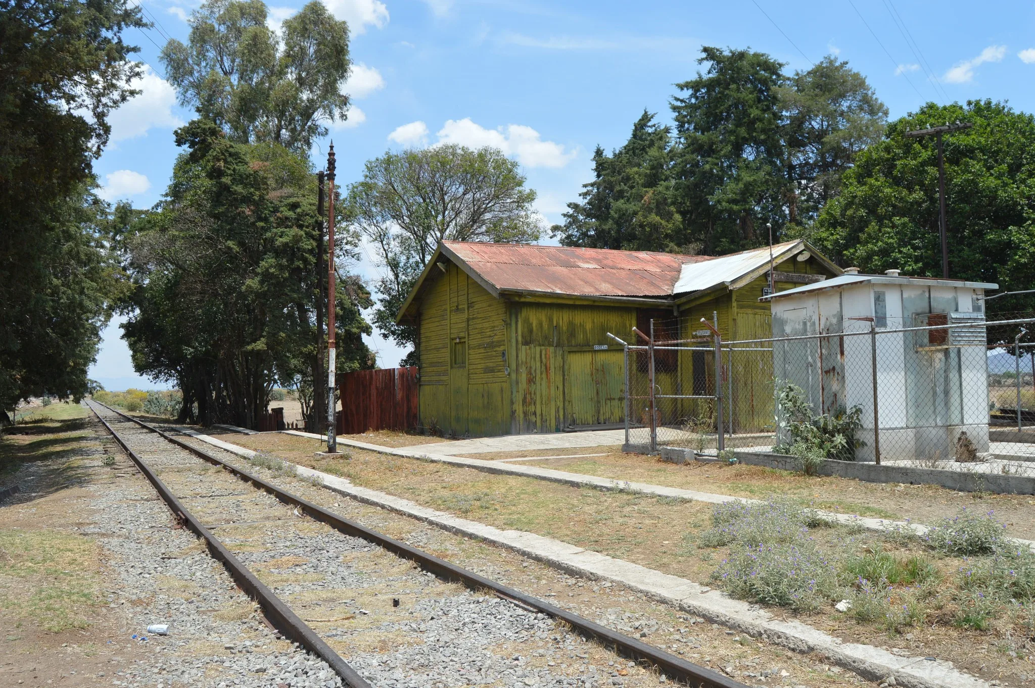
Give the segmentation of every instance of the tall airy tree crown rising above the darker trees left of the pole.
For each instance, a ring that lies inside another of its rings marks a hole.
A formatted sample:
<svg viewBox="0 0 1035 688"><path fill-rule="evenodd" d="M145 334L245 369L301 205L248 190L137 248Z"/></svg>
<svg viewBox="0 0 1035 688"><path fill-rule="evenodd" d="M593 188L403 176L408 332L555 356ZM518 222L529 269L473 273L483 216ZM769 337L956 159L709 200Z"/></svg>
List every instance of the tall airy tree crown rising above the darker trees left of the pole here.
<svg viewBox="0 0 1035 688"><path fill-rule="evenodd" d="M318 1L266 26L262 0L209 0L190 17L188 43L170 40L161 61L180 103L224 127L236 143L271 142L308 151L344 120L349 98L349 27Z"/></svg>

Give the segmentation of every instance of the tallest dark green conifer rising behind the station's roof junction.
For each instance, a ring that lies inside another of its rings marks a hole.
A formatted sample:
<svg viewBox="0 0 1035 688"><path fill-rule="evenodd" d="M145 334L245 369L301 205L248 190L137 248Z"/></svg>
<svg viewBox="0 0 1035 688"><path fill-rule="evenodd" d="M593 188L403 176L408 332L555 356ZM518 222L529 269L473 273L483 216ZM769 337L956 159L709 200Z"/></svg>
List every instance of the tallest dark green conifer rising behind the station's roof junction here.
<svg viewBox="0 0 1035 688"><path fill-rule="evenodd" d="M676 208L685 241L720 255L759 246L785 222L780 88L783 64L749 50L702 48L707 71L676 84L672 99Z"/></svg>

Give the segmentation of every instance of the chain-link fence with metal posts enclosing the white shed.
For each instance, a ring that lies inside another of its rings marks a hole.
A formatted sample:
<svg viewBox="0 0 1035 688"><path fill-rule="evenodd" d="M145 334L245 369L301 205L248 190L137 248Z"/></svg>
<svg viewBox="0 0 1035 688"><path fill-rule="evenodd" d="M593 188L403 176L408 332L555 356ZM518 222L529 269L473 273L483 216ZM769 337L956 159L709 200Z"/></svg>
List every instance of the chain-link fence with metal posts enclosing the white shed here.
<svg viewBox="0 0 1035 688"><path fill-rule="evenodd" d="M1024 316L866 318L796 336L776 323L782 336L732 341L715 317L652 322L628 346L626 444L1035 476Z"/></svg>

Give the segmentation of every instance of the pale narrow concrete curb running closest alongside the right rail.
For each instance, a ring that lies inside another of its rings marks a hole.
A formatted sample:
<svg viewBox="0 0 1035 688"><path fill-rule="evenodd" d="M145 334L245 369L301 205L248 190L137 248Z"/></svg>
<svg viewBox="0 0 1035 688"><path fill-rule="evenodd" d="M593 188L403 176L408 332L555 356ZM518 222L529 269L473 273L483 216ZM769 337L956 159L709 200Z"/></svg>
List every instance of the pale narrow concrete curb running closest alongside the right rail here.
<svg viewBox="0 0 1035 688"><path fill-rule="evenodd" d="M193 430L185 430L185 433L245 458L252 458L258 453ZM295 468L299 476L319 477L327 489L359 502L423 520L451 533L507 547L574 575L622 584L694 616L755 637L763 637L796 652L818 652L828 661L865 679L887 681L894 677L893 685L905 688L989 688L988 683L959 671L949 661L929 657L898 656L874 646L845 642L807 624L777 619L756 604L735 600L724 593L686 578L661 573L534 533L503 531L466 518L457 518L409 500L359 487L337 476L301 466Z"/></svg>

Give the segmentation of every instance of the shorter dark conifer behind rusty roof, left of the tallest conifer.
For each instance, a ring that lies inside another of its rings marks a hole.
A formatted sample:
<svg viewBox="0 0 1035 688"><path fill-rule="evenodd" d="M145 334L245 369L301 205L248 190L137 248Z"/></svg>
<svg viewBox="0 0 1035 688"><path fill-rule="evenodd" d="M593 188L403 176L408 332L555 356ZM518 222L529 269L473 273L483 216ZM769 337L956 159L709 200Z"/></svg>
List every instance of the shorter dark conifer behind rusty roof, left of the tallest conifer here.
<svg viewBox="0 0 1035 688"><path fill-rule="evenodd" d="M688 251L682 217L673 207L671 136L644 111L629 140L611 155L597 146L593 181L569 203L551 233L565 246Z"/></svg>

